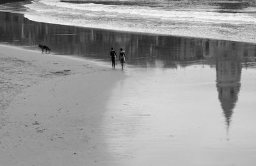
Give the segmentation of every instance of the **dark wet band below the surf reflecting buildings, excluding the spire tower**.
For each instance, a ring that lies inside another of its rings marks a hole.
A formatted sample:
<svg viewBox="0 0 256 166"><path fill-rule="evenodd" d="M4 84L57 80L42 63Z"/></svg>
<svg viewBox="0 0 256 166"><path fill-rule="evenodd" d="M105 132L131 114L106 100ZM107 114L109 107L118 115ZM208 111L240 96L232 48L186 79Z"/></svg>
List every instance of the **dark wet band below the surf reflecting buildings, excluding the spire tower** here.
<svg viewBox="0 0 256 166"><path fill-rule="evenodd" d="M122 47L129 59L127 64L131 66L157 66L156 63L161 62L164 68L177 68L177 65L188 66L189 61L211 65L211 61L218 56L237 54L243 61L246 57L254 57L256 51L256 44L252 43L120 33L34 22L17 13L0 14L0 21L4 22L0 26L2 43L7 42L31 50L39 50L38 44L41 43L50 47L52 54L99 59L105 62L109 61L111 47L116 51ZM173 64L173 61L176 64Z"/></svg>

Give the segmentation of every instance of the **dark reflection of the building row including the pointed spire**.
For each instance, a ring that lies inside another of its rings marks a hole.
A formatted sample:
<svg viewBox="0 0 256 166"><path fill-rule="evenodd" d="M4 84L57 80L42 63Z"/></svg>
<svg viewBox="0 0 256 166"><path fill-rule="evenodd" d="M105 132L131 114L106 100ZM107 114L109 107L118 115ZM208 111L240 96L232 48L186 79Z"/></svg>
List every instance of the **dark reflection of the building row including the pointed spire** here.
<svg viewBox="0 0 256 166"><path fill-rule="evenodd" d="M109 61L109 48L120 47L134 66L177 68L191 64L216 66L219 100L227 127L238 100L242 64L255 67L256 47L250 43L173 36L120 33L33 22L0 12L0 42L38 49L48 45L56 54ZM39 51L39 49L38 49ZM253 58L250 58L253 57ZM253 60L254 59L254 60Z"/></svg>

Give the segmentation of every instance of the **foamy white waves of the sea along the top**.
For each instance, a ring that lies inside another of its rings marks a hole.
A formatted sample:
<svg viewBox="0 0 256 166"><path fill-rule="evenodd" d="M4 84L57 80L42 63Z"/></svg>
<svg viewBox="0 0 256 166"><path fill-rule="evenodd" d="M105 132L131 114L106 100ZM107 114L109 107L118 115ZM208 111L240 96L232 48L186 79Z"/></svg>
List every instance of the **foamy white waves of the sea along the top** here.
<svg viewBox="0 0 256 166"><path fill-rule="evenodd" d="M25 17L116 31L256 42L255 1L35 0Z"/></svg>

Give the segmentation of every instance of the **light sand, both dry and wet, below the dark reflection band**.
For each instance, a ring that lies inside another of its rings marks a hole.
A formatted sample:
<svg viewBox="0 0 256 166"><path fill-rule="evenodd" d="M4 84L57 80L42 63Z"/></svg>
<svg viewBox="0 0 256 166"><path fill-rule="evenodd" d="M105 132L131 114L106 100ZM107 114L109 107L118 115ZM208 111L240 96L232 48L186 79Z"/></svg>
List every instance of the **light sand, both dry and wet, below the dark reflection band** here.
<svg viewBox="0 0 256 166"><path fill-rule="evenodd" d="M255 163L254 69L241 71L240 91L239 83L216 84L208 66L122 71L0 50L0 165Z"/></svg>

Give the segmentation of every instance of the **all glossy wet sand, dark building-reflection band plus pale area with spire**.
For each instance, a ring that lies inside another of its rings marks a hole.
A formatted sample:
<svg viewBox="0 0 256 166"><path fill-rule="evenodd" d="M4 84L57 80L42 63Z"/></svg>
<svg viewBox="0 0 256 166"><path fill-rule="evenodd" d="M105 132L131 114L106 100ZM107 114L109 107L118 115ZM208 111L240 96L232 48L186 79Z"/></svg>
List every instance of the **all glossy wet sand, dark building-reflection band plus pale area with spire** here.
<svg viewBox="0 0 256 166"><path fill-rule="evenodd" d="M128 77L106 98L102 117L112 118L97 122L116 165L255 165L255 44L58 26L3 12L0 21L2 43L42 43L109 68L109 48L125 49Z"/></svg>

